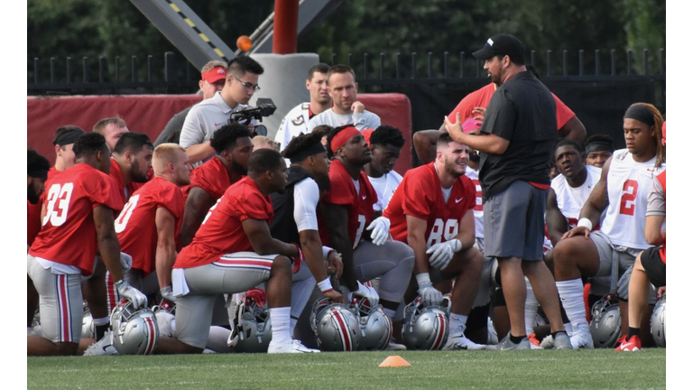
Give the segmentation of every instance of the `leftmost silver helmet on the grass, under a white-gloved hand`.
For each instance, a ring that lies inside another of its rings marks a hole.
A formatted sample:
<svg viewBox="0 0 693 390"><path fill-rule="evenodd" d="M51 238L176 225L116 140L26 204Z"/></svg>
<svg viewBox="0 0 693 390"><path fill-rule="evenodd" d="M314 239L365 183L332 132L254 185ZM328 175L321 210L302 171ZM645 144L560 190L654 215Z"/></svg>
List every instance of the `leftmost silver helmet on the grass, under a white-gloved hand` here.
<svg viewBox="0 0 693 390"><path fill-rule="evenodd" d="M112 342L120 355L152 355L159 342L159 326L151 309L134 308L122 300L111 313Z"/></svg>

